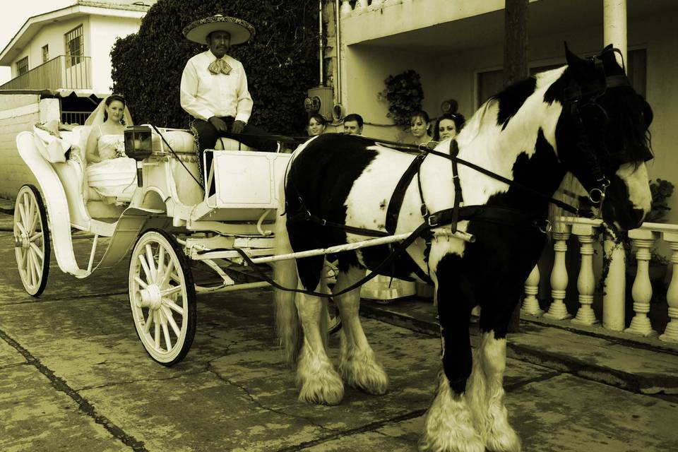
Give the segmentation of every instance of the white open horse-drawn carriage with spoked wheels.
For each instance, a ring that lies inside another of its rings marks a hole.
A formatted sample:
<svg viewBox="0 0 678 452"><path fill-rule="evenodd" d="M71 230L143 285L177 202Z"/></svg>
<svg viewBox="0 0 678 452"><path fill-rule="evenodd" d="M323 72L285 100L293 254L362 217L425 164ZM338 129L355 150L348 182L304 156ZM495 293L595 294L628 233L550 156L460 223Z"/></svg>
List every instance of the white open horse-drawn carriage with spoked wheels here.
<svg viewBox="0 0 678 452"><path fill-rule="evenodd" d="M47 284L50 243L59 268L76 278L114 266L131 250L129 300L136 331L155 361L172 365L184 358L194 338L196 292L268 285L236 284L224 269L242 263L235 249L252 257L273 254L276 187L290 154L239 150L240 143L224 139L217 147L234 150L214 151L213 174L208 177L214 177L216 193L205 196L191 133L148 130L152 153L138 164L143 185L113 204L103 202L88 186L87 126L59 132L57 141L71 149L65 161L54 137L39 129L19 133L18 152L39 187L24 185L18 192L16 261L25 290L37 297ZM72 235L79 231L93 237L86 268L78 266L73 251ZM95 263L100 237L110 239ZM220 283L194 285L191 261L210 266Z"/></svg>

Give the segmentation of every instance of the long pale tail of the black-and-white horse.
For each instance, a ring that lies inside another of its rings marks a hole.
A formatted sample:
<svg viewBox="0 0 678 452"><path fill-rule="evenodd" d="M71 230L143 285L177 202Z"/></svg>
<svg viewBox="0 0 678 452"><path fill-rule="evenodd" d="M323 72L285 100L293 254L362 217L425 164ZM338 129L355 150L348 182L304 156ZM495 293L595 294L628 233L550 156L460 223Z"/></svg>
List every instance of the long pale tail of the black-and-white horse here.
<svg viewBox="0 0 678 452"><path fill-rule="evenodd" d="M275 254L292 252L290 237L287 234L287 215L285 215L285 181L278 187L280 202L278 213L275 215ZM273 266L273 279L283 287L297 288L297 261L289 259L278 261ZM295 292L274 290L275 298L275 328L278 331L280 345L285 350L287 362L293 364L297 360L302 345L302 329L295 306Z"/></svg>

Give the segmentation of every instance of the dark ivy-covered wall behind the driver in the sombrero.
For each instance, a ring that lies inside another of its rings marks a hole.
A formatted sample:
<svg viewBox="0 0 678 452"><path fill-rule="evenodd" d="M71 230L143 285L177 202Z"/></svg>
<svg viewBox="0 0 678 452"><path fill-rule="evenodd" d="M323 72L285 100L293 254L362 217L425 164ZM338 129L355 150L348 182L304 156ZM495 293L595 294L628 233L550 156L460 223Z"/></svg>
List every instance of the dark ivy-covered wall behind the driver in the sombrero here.
<svg viewBox="0 0 678 452"><path fill-rule="evenodd" d="M111 52L113 92L124 95L136 124L188 126L179 104L182 71L206 46L183 28L222 14L247 20L256 35L228 52L242 62L254 99L250 119L270 133L304 133L304 97L319 83L317 0L160 0L138 33L119 38Z"/></svg>

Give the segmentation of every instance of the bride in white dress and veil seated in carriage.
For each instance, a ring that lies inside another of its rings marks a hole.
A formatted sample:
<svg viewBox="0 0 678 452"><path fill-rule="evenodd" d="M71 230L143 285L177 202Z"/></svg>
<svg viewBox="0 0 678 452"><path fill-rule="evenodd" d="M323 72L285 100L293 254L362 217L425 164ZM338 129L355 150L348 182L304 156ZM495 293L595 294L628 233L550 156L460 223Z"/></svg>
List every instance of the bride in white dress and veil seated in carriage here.
<svg viewBox="0 0 678 452"><path fill-rule="evenodd" d="M105 203L129 201L136 189L136 162L124 154L124 130L131 125L125 99L117 94L106 97L85 121L91 126L85 146L88 184Z"/></svg>

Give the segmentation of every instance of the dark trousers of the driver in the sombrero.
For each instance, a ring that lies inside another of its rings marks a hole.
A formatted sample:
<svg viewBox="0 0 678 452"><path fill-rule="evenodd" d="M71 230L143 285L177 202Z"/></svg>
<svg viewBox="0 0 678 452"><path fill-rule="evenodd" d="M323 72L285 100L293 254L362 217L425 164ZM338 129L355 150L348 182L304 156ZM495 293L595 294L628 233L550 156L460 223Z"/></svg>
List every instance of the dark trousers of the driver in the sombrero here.
<svg viewBox="0 0 678 452"><path fill-rule="evenodd" d="M230 128L235 119L233 117L222 117L220 119L222 119L228 125L230 132ZM198 157L200 157L200 164L202 165L203 155L204 158L206 159L205 160L206 167L204 169L206 175L209 175L209 170L210 167L212 166L212 153L207 153L205 155L205 150L214 149L214 146L216 145L217 140L220 136L228 136L237 141L240 141L241 143L248 145L251 148L255 148L256 150L275 152L275 150L278 148L278 143L275 140L266 138L266 136L268 135L266 131L263 131L263 129L259 129L258 127L251 126L249 124L246 124L244 129L242 130L244 136L230 136L230 133L220 133L217 129L215 129L215 126L210 124L209 121L203 121L202 119L195 119L193 126L195 127L196 132L198 133ZM214 194L214 192L215 189L213 181L212 184L210 185L209 194L212 195Z"/></svg>

